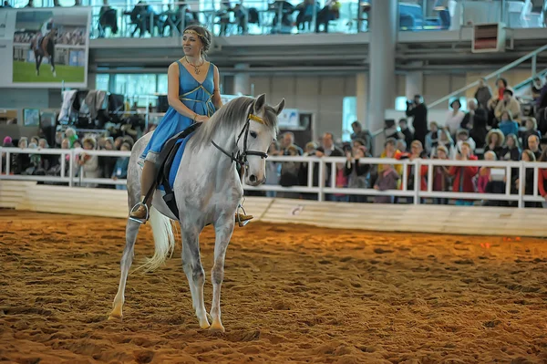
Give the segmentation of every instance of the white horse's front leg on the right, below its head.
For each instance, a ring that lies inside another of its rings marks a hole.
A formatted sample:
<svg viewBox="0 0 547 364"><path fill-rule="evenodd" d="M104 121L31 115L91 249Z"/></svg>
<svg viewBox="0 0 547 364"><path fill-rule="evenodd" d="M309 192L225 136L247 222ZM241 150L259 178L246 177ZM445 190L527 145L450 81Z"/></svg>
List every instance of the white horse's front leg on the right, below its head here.
<svg viewBox="0 0 547 364"><path fill-rule="evenodd" d="M221 286L224 279L224 258L233 233L233 214L223 216L214 224L214 264L212 265L211 329L224 332L221 321Z"/></svg>

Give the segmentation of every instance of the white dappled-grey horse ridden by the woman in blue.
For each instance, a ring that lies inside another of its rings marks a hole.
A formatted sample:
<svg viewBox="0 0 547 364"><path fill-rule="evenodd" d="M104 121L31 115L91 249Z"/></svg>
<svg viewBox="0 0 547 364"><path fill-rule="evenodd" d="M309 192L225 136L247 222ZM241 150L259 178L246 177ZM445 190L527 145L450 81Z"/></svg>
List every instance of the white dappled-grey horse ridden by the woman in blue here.
<svg viewBox="0 0 547 364"><path fill-rule="evenodd" d="M191 290L192 307L201 328L224 331L221 321L221 285L224 256L232 238L234 213L243 197L243 187L236 163L243 167L245 183L259 185L265 181L265 158L276 137L277 116L284 109L284 99L275 107L266 105L265 95L240 97L222 106L201 125L188 141L173 185L180 219L170 212L156 191L150 208L150 224L155 253L143 267L152 271L162 265L174 248L172 221L179 220L182 236L182 266ZM135 143L129 158L129 209L139 202L139 156L151 133ZM203 303L205 272L201 265L199 236L203 227L215 230L214 265L212 266L212 308L210 325ZM121 277L109 318L121 318L124 292L133 248L140 224L128 219L126 246L121 257Z"/></svg>

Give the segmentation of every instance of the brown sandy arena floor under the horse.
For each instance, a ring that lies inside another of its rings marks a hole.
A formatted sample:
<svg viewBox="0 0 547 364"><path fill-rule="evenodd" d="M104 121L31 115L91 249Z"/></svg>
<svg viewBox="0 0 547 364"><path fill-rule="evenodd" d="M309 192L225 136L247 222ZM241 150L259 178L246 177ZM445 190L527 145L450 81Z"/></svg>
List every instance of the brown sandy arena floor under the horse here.
<svg viewBox="0 0 547 364"><path fill-rule="evenodd" d="M0 361L545 363L547 241L236 228L225 334L201 330L180 246L129 275L108 321L125 221L0 211ZM201 234L211 307L212 230ZM141 228L136 262L153 250Z"/></svg>

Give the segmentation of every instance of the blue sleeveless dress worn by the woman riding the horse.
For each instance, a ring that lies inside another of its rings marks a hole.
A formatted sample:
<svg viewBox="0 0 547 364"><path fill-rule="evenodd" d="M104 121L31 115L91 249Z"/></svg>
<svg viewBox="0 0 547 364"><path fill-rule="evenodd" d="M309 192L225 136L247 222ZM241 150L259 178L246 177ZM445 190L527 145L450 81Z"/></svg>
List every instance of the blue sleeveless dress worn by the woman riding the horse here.
<svg viewBox="0 0 547 364"><path fill-rule="evenodd" d="M211 117L216 111L212 103L212 95L214 91L214 66L212 63L207 69L205 80L200 83L191 76L188 69L182 66L181 61L177 61L179 65L179 99L182 103L198 115L207 115ZM193 121L181 115L176 109L169 107L144 151L140 159L153 161L158 163L160 151L167 140L185 130Z"/></svg>

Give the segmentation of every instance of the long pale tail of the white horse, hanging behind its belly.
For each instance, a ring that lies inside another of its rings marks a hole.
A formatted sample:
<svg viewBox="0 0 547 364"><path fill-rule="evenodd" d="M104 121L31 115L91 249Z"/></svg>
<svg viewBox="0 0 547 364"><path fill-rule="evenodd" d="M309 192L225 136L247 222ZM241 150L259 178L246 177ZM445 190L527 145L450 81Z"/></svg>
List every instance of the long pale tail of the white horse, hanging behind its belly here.
<svg viewBox="0 0 547 364"><path fill-rule="evenodd" d="M158 269L173 254L175 248L175 234L173 234L170 218L152 206L149 222L154 235L155 252L151 258L146 258L145 263L137 268L142 268L145 272L153 272Z"/></svg>

